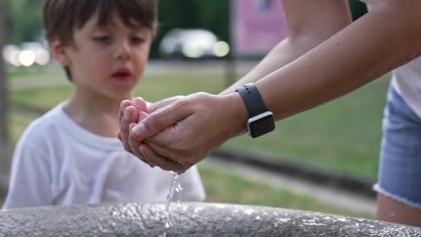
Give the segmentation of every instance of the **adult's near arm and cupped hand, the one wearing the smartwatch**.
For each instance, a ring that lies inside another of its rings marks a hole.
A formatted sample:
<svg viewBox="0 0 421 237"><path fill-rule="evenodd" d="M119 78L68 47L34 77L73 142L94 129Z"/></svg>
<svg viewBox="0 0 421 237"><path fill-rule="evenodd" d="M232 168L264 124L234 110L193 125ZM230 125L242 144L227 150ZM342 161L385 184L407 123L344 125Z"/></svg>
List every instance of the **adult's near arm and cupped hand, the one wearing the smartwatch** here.
<svg viewBox="0 0 421 237"><path fill-rule="evenodd" d="M364 17L257 80L256 87L277 120L321 105L418 57L420 21L420 1L377 1ZM254 79L244 77L239 83L250 80ZM132 130L131 139L149 137L154 152L144 148L143 153L161 168L172 169L163 157L186 167L195 164L227 139L245 132L244 104L238 94L229 92L193 94L159 109Z"/></svg>

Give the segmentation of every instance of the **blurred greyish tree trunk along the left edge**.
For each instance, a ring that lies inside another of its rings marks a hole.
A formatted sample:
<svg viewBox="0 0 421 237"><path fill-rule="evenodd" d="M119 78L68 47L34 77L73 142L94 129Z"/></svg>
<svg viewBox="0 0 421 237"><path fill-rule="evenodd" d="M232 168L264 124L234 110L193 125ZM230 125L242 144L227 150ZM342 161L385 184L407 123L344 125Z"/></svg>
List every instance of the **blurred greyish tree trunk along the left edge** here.
<svg viewBox="0 0 421 237"><path fill-rule="evenodd" d="M0 52L6 42L6 4L0 1ZM8 86L6 68L0 54L0 194L4 195L10 175L10 134L8 130Z"/></svg>

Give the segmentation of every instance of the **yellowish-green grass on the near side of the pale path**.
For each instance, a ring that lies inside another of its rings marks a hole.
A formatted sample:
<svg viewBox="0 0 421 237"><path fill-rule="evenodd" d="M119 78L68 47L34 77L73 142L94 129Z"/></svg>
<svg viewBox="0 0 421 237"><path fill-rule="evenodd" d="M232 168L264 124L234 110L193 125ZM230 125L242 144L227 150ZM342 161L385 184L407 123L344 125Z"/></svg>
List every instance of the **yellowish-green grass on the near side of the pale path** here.
<svg viewBox="0 0 421 237"><path fill-rule="evenodd" d="M21 133L35 116L12 112L11 135L16 143ZM225 170L217 170L211 166L199 166L201 180L206 190L206 202L264 205L268 207L283 207L306 211L319 211L342 216L375 218L367 213L355 213L344 209L337 209L321 204L318 200L307 195L296 195L287 190L271 188L266 184L251 182ZM1 204L0 200L0 204Z"/></svg>

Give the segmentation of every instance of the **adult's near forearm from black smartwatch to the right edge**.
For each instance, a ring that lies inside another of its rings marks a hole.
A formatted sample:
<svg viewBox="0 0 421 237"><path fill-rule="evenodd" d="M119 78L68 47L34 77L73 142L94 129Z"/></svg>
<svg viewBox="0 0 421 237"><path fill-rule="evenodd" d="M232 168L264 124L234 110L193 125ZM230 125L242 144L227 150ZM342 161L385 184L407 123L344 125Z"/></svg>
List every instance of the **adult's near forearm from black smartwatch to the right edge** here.
<svg viewBox="0 0 421 237"><path fill-rule="evenodd" d="M256 86L276 119L342 96L418 56L421 14L410 5L420 3L408 2L373 10L258 80Z"/></svg>

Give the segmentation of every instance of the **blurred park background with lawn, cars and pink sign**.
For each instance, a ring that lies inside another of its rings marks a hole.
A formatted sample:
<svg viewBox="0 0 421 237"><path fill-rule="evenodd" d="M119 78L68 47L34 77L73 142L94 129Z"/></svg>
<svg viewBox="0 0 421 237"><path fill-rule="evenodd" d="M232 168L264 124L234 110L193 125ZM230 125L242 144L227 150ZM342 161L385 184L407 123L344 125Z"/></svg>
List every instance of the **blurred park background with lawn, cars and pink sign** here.
<svg viewBox="0 0 421 237"><path fill-rule="evenodd" d="M363 3L349 2L353 19L366 13ZM40 1L0 4L4 197L10 157L21 133L69 97L72 86L51 60ZM217 94L251 70L287 33L278 0L161 0L159 21L150 63L136 88L136 95L150 101L197 91ZM206 201L374 218L370 186L377 175L388 80L386 75L339 100L280 121L275 132L258 139L242 136L227 142L199 164Z"/></svg>

